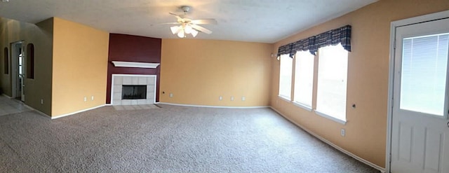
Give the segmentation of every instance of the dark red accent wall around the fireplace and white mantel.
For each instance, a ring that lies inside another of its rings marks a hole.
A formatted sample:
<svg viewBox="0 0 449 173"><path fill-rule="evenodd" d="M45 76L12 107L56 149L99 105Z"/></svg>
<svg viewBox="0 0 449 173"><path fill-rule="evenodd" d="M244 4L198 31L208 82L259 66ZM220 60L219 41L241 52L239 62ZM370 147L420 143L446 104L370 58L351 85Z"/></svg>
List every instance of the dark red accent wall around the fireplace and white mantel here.
<svg viewBox="0 0 449 173"><path fill-rule="evenodd" d="M161 39L126 34L109 34L109 58L107 64L106 103L111 103L112 74L155 74L156 102L159 102L159 65L156 69L114 67L112 61L161 63Z"/></svg>

